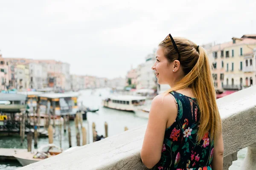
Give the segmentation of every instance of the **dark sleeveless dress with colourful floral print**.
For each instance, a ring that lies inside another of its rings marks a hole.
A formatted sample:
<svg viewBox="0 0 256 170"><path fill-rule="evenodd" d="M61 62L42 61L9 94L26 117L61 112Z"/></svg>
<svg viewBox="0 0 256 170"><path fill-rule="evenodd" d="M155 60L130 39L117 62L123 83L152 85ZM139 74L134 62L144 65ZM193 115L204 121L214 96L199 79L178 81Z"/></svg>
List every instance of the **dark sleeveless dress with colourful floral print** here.
<svg viewBox="0 0 256 170"><path fill-rule="evenodd" d="M177 118L165 131L161 159L154 170L212 170L214 144L209 132L196 142L200 120L196 98L176 91L170 94L176 99Z"/></svg>

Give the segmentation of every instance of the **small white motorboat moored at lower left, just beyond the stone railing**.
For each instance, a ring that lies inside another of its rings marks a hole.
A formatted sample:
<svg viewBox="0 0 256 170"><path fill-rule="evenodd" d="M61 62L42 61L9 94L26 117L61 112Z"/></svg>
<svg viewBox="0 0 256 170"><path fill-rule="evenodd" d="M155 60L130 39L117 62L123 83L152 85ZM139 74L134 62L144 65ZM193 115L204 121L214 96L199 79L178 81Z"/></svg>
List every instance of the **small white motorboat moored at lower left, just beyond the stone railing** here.
<svg viewBox="0 0 256 170"><path fill-rule="evenodd" d="M55 144L45 144L38 148L35 152L17 152L13 156L20 162L22 166L32 164L49 157L62 153L63 150Z"/></svg>

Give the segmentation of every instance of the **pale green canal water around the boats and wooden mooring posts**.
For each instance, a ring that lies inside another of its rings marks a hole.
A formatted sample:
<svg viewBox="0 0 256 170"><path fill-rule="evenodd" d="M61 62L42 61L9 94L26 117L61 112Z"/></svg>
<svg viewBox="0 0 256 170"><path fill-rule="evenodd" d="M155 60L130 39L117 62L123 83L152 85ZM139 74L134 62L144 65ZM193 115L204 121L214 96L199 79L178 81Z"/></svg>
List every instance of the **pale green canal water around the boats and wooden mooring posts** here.
<svg viewBox="0 0 256 170"><path fill-rule="evenodd" d="M105 122L108 123L108 136L113 136L124 131L125 126L128 129L133 129L147 123L147 119L137 117L132 112L117 111L114 109L103 108L101 106L101 99L108 96L110 89L97 89L95 91L83 90L79 91L79 101L83 102L83 105L89 108L99 108L96 113L87 113L87 120L83 121L83 126L87 130L87 143L93 142L92 135L92 123L95 122L96 130L99 135L105 136ZM150 103L150 101L147 101ZM70 121L72 146L76 146L76 130L73 121ZM67 149L69 147L68 134L61 130L62 140L60 141L60 129L56 127L56 133L54 135L53 143ZM82 140L81 140L82 141ZM48 138L39 138L38 147L43 144L48 144ZM32 143L32 149L34 144ZM22 146L20 146L20 137L0 136L0 148L27 148L26 139ZM238 152L238 160L233 161L230 170L237 170L241 166L241 163L246 154L247 148L244 148ZM1 162L0 170L15 170L21 167L18 162Z"/></svg>

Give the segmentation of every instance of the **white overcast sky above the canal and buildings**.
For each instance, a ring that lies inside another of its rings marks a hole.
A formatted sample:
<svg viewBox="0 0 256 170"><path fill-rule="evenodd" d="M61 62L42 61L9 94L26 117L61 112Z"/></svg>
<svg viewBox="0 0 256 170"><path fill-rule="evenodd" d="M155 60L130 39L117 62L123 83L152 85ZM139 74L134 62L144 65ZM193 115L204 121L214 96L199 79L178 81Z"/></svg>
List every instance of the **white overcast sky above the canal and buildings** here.
<svg viewBox="0 0 256 170"><path fill-rule="evenodd" d="M198 45L256 34L256 3L0 0L3 57L68 62L71 74L125 77L169 33Z"/></svg>

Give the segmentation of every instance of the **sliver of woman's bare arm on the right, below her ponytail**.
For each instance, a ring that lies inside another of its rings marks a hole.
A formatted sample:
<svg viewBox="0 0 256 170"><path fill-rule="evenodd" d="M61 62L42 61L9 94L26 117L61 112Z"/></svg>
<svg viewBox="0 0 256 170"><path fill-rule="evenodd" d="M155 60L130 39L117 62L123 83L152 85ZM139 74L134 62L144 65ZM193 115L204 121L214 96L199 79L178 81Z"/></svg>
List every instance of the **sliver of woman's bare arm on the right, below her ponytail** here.
<svg viewBox="0 0 256 170"><path fill-rule="evenodd" d="M222 170L223 169L223 153L224 153L223 138L222 138L222 133L220 133L220 135L214 142L212 170Z"/></svg>

